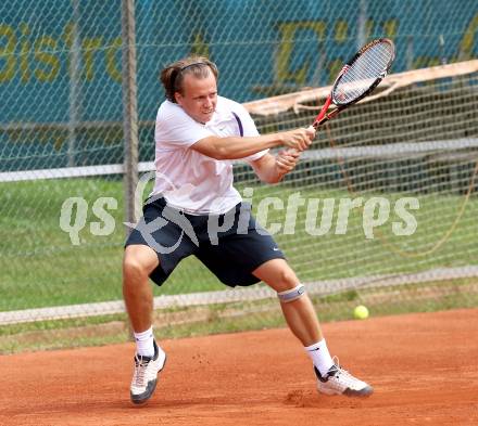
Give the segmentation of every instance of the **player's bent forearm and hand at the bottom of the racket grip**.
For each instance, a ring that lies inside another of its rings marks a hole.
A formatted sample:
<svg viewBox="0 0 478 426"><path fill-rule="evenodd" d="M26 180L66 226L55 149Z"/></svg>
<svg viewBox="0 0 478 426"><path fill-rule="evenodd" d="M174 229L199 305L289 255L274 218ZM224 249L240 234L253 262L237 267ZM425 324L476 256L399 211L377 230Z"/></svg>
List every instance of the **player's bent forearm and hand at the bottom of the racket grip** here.
<svg viewBox="0 0 478 426"><path fill-rule="evenodd" d="M276 156L265 154L251 163L259 179L266 183L278 183L292 171L299 162L299 152L294 150L281 151Z"/></svg>

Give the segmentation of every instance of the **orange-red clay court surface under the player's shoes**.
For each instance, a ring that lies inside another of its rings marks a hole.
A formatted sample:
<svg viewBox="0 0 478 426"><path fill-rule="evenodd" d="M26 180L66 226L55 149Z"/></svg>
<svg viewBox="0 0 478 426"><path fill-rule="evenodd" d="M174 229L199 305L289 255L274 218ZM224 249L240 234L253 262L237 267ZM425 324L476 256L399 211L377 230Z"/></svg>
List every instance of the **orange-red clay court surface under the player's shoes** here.
<svg viewBox="0 0 478 426"><path fill-rule="evenodd" d="M315 391L288 330L164 340L156 392L129 403L134 345L0 357L0 425L477 425L478 310L323 324L329 349L375 387Z"/></svg>

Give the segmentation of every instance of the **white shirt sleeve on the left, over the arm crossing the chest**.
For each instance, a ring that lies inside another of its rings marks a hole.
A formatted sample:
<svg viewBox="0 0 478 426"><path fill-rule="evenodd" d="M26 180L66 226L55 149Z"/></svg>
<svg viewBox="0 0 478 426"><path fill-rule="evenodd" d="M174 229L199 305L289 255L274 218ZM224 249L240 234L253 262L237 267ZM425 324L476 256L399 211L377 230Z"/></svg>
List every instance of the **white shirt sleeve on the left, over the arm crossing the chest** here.
<svg viewBox="0 0 478 426"><path fill-rule="evenodd" d="M160 106L154 128L156 143L189 147L211 135L210 130L189 117L179 105L166 101Z"/></svg>

